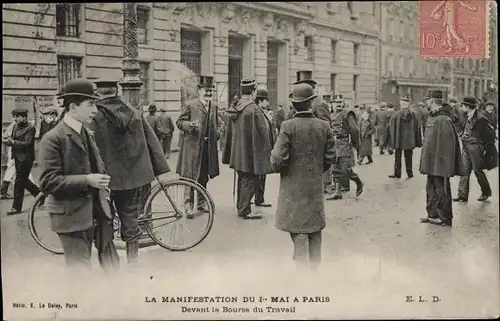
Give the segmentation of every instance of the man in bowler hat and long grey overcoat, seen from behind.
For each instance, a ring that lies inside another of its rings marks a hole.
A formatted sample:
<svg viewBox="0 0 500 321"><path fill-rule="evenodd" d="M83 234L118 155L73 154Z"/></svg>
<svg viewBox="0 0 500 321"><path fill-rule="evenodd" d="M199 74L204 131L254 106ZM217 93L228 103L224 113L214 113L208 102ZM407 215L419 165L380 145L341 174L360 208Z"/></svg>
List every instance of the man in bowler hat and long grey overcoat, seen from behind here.
<svg viewBox="0 0 500 321"><path fill-rule="evenodd" d="M281 177L276 228L290 233L293 259L313 268L321 262L321 231L326 226L322 176L336 158L330 124L311 112L316 95L308 84L294 86L297 112L283 122L271 152L271 164Z"/></svg>

